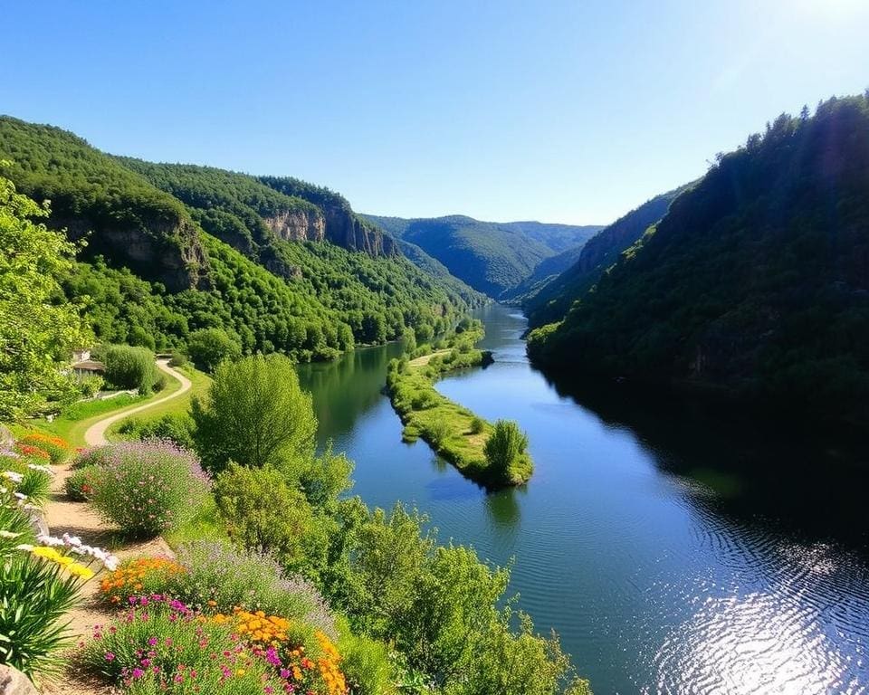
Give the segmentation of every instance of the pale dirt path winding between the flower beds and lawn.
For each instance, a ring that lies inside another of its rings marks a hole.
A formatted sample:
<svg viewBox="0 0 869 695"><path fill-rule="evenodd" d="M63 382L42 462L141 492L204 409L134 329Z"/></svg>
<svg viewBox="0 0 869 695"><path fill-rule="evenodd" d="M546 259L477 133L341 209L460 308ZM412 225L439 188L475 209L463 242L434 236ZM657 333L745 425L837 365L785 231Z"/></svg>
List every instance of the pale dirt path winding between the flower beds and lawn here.
<svg viewBox="0 0 869 695"><path fill-rule="evenodd" d="M106 431L119 420L129 417L131 414L145 411L155 405L166 403L166 401L177 398L179 395L184 395L190 390L192 386L190 380L177 372L177 370L169 367L166 360L158 362L158 367L180 381L181 388L165 398L158 398L156 401L125 410L123 413L109 415L98 423L92 424L87 432L84 433L85 442L89 446L99 446L100 444L107 443L105 437ZM163 538L155 538L144 543L122 541L118 536L117 529L111 528L110 525L100 519L100 515L91 509L90 505L86 502L73 502L69 500L66 497L64 485L66 479L72 474L71 465L72 462L67 462L62 467L55 469L52 494L45 508L45 521L53 536L62 536L64 533L78 536L88 545L108 548L120 559L136 557L138 555L166 555L170 557L173 555L172 549L167 546ZM91 579L90 582L85 584L81 590L81 605L69 614L70 627L75 635L76 643L90 639L93 626L105 624L110 618L110 611L99 605L96 600L99 586L99 578ZM85 693L108 695L108 693L112 692L104 683L83 679L81 674L75 671L72 664L69 673L64 674L62 679L58 681L46 684L42 691L43 693L51 693L51 695L84 695Z"/></svg>

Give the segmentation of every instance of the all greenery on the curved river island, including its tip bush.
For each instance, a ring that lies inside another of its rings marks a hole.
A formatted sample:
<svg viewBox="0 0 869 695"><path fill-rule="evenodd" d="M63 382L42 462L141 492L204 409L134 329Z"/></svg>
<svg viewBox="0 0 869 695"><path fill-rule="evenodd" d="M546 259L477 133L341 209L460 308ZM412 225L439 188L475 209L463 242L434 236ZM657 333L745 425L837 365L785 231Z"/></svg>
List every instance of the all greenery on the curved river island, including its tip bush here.
<svg viewBox="0 0 869 695"><path fill-rule="evenodd" d="M417 348L409 341L406 355L389 363L387 393L405 425L406 442L422 438L464 476L488 488L520 485L530 479L533 464L518 426L487 423L435 388L448 372L491 361L490 353L474 347L482 337L481 321L463 319L434 345ZM519 435L510 439L511 447L499 443L505 431Z"/></svg>

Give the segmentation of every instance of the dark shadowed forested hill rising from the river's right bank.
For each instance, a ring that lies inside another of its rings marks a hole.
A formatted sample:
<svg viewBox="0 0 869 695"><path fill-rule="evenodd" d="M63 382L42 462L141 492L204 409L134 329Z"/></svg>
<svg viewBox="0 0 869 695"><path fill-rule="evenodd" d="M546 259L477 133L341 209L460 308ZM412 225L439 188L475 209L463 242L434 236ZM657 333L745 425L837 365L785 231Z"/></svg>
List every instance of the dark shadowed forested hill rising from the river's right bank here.
<svg viewBox="0 0 869 695"><path fill-rule="evenodd" d="M720 157L529 353L869 423L869 94Z"/></svg>

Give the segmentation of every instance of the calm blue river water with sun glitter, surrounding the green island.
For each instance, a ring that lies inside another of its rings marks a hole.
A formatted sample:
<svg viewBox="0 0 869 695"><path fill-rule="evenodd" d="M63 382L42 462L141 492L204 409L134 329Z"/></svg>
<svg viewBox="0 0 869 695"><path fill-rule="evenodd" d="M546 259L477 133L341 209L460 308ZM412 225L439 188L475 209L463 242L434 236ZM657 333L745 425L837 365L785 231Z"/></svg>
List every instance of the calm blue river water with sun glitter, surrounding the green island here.
<svg viewBox="0 0 869 695"><path fill-rule="evenodd" d="M559 393L528 364L520 314L479 315L495 364L438 388L520 422L530 484L486 494L425 443L401 442L380 394L393 345L301 367L320 440L356 462L369 505L403 500L442 541L514 558L520 607L559 632L598 695L869 692L860 461L616 385Z"/></svg>

